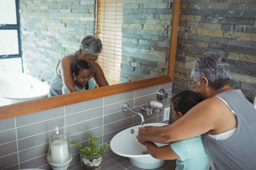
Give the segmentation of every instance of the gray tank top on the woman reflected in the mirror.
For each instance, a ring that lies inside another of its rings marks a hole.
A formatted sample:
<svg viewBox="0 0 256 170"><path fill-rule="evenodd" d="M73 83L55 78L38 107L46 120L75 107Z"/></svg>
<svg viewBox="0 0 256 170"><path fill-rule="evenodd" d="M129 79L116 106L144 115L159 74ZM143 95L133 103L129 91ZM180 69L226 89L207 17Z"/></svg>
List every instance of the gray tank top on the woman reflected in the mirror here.
<svg viewBox="0 0 256 170"><path fill-rule="evenodd" d="M76 53L75 53L76 54ZM73 63L76 62L76 55L75 54L68 54L72 60ZM60 63L60 62L59 62ZM91 70L91 75L92 75L92 70L93 70L93 64L92 63L90 66L90 70ZM59 65L59 64L58 64ZM57 65L57 67L58 67ZM62 82L62 77L61 75L57 74L57 67L56 67L56 71L54 73L54 76L52 78L52 81L50 83L50 89L49 89L49 93L48 93L48 97L51 96L57 96L62 94L62 87L63 87L63 82Z"/></svg>

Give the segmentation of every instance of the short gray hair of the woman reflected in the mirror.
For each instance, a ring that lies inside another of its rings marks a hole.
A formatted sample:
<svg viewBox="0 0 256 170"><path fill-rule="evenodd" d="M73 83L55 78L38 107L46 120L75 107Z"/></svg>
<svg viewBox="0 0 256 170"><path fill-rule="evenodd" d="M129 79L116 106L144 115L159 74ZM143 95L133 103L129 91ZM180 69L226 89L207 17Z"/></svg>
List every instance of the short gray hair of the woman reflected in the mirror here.
<svg viewBox="0 0 256 170"><path fill-rule="evenodd" d="M102 51L102 43L98 37L87 35L81 41L79 49L85 54L99 55Z"/></svg>

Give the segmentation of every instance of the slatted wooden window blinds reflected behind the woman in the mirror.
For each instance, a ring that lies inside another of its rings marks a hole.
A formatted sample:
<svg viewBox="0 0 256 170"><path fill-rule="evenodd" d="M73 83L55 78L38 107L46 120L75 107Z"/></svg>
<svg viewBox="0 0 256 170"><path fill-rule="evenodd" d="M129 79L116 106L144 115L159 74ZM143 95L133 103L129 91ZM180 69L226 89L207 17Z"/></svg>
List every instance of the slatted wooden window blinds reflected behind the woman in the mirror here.
<svg viewBox="0 0 256 170"><path fill-rule="evenodd" d="M97 0L96 36L102 41L97 63L109 85L119 84L122 48L123 0Z"/></svg>

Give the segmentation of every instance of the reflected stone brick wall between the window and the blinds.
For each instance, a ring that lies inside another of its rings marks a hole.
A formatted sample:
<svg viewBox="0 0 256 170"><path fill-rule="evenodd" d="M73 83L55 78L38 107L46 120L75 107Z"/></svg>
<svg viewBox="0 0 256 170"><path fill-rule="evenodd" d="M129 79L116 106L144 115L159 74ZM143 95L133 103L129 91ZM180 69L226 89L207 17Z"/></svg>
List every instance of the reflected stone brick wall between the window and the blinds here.
<svg viewBox="0 0 256 170"><path fill-rule="evenodd" d="M94 0L20 0L24 72L51 81L60 58L95 32Z"/></svg>

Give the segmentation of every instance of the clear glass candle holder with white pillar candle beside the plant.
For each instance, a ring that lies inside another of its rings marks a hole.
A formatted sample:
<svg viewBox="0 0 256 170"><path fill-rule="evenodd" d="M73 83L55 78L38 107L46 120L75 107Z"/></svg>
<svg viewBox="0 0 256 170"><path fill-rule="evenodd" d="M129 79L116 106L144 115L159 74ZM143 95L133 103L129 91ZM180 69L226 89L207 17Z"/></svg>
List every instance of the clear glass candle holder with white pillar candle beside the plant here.
<svg viewBox="0 0 256 170"><path fill-rule="evenodd" d="M65 127L54 127L48 130L49 150L47 161L54 167L63 166L67 169L69 162L72 160L72 152L69 145L69 129Z"/></svg>

